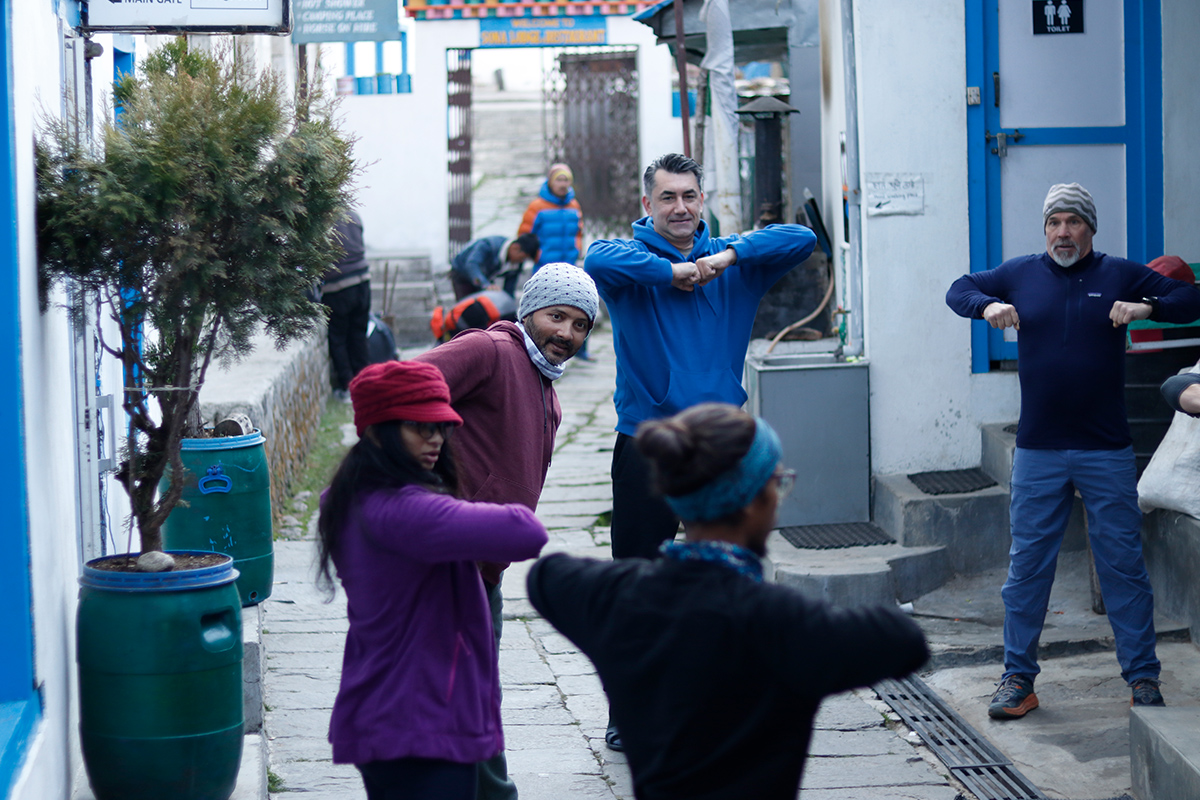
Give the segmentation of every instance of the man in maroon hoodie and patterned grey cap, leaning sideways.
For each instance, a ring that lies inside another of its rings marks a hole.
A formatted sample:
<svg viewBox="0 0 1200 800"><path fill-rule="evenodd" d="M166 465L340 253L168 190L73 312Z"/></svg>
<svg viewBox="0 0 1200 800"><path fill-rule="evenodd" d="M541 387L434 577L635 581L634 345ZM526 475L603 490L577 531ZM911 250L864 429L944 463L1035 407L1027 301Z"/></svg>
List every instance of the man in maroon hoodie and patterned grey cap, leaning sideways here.
<svg viewBox="0 0 1200 800"><path fill-rule="evenodd" d="M500 320L486 330L470 329L416 356L442 371L450 404L462 416L454 444L464 499L538 509L563 419L553 381L580 351L599 309L600 296L587 272L574 264L547 264L524 284L520 323ZM505 567L479 565L497 649ZM517 796L504 753L480 764L476 775L480 800Z"/></svg>

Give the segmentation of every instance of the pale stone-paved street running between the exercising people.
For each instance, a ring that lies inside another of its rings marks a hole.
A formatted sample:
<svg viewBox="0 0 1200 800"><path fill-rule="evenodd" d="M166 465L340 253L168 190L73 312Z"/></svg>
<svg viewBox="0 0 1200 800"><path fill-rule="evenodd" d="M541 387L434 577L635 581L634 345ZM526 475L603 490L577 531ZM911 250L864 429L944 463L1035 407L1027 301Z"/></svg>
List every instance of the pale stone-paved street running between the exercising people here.
<svg viewBox="0 0 1200 800"><path fill-rule="evenodd" d="M557 384L563 404L554 462L538 516L550 551L610 558L614 361L608 331L592 342L593 362L571 362ZM410 354L407 354L410 355ZM353 431L350 431L353 438ZM276 587L263 604L266 654L265 729L271 798L365 796L358 771L334 764L325 739L346 632L346 599L323 602L313 584L308 521L304 541L276 542ZM607 702L590 662L540 619L524 591L528 564L504 581L500 645L509 769L526 800L632 799L624 758L604 744ZM832 698L818 718L805 776L805 800L953 800L955 789L922 750L884 724L869 692Z"/></svg>

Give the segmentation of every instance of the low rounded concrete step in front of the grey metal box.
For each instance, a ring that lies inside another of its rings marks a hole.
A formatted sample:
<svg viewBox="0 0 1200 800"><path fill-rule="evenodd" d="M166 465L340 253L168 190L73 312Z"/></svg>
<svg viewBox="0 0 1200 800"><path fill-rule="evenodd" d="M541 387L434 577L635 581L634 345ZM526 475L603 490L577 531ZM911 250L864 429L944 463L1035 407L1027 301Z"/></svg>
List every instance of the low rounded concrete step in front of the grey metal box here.
<svg viewBox="0 0 1200 800"><path fill-rule="evenodd" d="M802 549L774 533L767 552L776 583L838 606L907 602L932 591L952 575L943 547Z"/></svg>

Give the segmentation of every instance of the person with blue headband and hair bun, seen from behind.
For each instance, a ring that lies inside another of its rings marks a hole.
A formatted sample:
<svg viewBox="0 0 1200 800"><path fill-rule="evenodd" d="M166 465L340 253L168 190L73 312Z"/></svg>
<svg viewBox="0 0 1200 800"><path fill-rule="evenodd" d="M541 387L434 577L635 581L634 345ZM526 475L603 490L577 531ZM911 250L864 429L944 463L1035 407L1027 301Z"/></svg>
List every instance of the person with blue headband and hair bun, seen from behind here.
<svg viewBox="0 0 1200 800"><path fill-rule="evenodd" d="M554 554L529 600L595 664L638 800L794 800L821 699L925 662L895 608L835 608L763 582L794 474L767 422L721 403L636 444L686 541L655 561Z"/></svg>

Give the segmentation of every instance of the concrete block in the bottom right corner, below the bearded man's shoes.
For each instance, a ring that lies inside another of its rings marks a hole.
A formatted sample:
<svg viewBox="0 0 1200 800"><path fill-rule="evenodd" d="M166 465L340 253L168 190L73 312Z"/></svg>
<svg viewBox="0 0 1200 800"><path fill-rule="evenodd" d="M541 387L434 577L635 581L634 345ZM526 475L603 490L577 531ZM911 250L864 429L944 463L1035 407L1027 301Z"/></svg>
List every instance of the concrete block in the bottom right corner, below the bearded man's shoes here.
<svg viewBox="0 0 1200 800"><path fill-rule="evenodd" d="M1138 800L1200 798L1200 708L1136 708L1129 714Z"/></svg>

